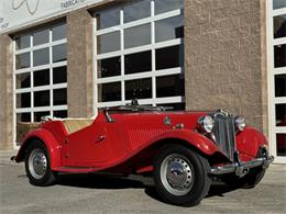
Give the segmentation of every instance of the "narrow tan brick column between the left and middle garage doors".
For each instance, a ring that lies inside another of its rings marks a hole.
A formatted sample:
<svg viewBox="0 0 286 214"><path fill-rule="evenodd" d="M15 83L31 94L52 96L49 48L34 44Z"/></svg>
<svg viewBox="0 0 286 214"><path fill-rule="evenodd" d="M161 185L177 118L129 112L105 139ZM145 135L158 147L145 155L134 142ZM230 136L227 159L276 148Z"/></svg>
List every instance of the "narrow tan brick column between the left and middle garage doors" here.
<svg viewBox="0 0 286 214"><path fill-rule="evenodd" d="M68 116L92 114L92 18L86 9L67 14Z"/></svg>

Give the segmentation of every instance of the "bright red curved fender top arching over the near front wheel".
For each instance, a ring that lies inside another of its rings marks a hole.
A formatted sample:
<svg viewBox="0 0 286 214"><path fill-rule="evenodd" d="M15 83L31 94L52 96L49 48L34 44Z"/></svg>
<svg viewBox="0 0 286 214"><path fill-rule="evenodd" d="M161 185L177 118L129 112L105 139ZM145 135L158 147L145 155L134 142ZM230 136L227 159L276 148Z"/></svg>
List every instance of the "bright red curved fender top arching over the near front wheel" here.
<svg viewBox="0 0 286 214"><path fill-rule="evenodd" d="M211 156L215 153L219 151L219 148L215 145L212 140L190 129L174 129L157 136L155 139L153 139L153 142L160 142L166 138L175 138L187 142L188 144L200 150L202 154L208 156Z"/></svg>

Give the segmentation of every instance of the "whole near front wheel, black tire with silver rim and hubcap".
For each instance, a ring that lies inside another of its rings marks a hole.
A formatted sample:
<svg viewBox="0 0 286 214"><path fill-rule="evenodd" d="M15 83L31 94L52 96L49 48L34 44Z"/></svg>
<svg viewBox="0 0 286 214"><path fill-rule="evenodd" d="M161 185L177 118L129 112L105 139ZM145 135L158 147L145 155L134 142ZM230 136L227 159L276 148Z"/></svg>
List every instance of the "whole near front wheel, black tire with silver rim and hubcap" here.
<svg viewBox="0 0 286 214"><path fill-rule="evenodd" d="M170 204L194 206L209 191L208 160L180 145L165 145L154 162L154 182L161 198Z"/></svg>

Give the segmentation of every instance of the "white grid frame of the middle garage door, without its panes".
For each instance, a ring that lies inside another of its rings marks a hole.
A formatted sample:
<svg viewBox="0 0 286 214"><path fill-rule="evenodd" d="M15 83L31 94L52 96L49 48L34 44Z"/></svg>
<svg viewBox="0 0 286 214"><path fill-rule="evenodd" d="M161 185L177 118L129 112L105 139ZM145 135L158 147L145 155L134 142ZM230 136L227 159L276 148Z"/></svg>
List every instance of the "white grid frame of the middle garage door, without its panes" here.
<svg viewBox="0 0 286 214"><path fill-rule="evenodd" d="M183 15L184 19L184 11L183 9L176 9L172 11L167 11L164 13L155 14L155 3L152 0L151 1L151 16L135 20L132 22L124 23L124 14L123 14L123 7L120 9L120 24L107 29L100 29L97 30L97 15L94 16L94 23L92 23L92 32L94 32L94 59L92 59L92 92L94 92L94 103L92 103L92 111L94 114L97 115L98 108L105 108L105 106L114 106L114 105L124 105L127 103L130 103L130 100L125 100L125 81L128 80L135 80L135 79L145 79L145 78L152 78L152 98L150 99L140 99L140 104L152 104L155 106L156 104L164 104L164 103L184 103L185 97L184 95L176 95L176 97L165 97L165 98L156 98L156 77L161 76L170 76L170 75L184 75L184 66L183 67L176 67L176 68L168 68L168 69L162 69L156 70L155 68L155 50L164 47L170 47L176 45L183 45L184 47L184 37L180 38L174 38L163 42L155 42L155 22L161 21L168 18L174 18L178 15ZM184 23L184 21L183 21ZM136 46L131 48L124 48L124 30L130 29L133 26L140 26L143 24L151 24L151 44L143 45L143 46ZM120 49L116 52L105 53L105 54L97 54L97 36L100 36L102 34L111 33L120 31ZM151 61L152 61L152 69L150 71L144 72L135 72L135 74L124 74L124 56L141 52L147 52L151 50ZM105 58L111 58L111 57L119 57L121 58L121 74L119 76L114 77L107 77L107 78L98 78L98 60L105 59ZM110 82L121 82L121 101L110 101L110 102L99 102L98 98L98 85L101 83L110 83Z"/></svg>

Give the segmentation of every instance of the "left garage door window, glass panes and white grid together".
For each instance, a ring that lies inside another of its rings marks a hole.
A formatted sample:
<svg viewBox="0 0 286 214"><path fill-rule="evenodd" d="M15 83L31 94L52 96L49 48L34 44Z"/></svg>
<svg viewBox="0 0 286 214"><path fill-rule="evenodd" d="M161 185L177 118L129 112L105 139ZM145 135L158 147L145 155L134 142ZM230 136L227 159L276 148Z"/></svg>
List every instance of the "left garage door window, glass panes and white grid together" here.
<svg viewBox="0 0 286 214"><path fill-rule="evenodd" d="M67 116L66 55L66 24L14 38L15 127Z"/></svg>

